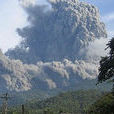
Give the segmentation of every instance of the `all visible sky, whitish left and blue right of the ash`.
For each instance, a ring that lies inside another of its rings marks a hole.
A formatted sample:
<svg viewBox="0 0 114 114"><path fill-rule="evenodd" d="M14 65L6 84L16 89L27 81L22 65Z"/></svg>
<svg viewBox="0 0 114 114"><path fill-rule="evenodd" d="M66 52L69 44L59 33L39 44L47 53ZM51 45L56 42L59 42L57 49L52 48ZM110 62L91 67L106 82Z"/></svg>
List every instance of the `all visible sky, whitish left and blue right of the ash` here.
<svg viewBox="0 0 114 114"><path fill-rule="evenodd" d="M26 0L27 3L44 4L46 0ZM106 24L109 37L114 34L114 0L80 0L94 4L99 8L101 20ZM21 38L16 29L27 25L27 15L19 4L18 0L0 0L0 49L6 52L9 48L14 48Z"/></svg>

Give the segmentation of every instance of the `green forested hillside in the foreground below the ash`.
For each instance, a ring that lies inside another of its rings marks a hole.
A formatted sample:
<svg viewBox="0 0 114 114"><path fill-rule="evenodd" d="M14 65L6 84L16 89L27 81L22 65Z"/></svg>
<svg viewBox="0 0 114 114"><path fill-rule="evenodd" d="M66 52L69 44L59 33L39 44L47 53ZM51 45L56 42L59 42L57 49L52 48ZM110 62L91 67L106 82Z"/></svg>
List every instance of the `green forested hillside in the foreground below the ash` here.
<svg viewBox="0 0 114 114"><path fill-rule="evenodd" d="M80 90L74 92L61 93L55 97L45 100L32 100L25 104L25 112L29 114L85 114L88 108L105 94L97 90ZM12 109L19 114L21 106ZM15 111L16 110L16 111Z"/></svg>

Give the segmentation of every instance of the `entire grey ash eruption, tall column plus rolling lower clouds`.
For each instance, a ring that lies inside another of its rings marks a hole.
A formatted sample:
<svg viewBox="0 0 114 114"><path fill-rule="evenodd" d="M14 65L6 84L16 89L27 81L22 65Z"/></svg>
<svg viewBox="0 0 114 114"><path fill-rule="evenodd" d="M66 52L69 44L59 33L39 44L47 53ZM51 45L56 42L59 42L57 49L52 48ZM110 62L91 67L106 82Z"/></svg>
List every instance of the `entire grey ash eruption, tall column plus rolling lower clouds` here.
<svg viewBox="0 0 114 114"><path fill-rule="evenodd" d="M51 9L25 8L29 25L17 30L22 42L6 53L10 59L0 55L2 88L78 88L96 78L99 55L94 59L90 52L107 37L98 9L78 0L48 2Z"/></svg>

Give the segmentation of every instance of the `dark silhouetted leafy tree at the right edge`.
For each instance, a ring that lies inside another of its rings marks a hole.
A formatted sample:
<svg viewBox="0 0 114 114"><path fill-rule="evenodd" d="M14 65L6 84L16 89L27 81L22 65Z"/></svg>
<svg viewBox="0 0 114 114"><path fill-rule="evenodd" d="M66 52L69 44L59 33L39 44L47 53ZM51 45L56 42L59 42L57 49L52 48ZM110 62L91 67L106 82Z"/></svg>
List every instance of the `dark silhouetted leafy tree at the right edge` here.
<svg viewBox="0 0 114 114"><path fill-rule="evenodd" d="M109 54L101 58L98 83L110 80L113 82L114 89L114 38L112 38L107 44L106 49L110 49Z"/></svg>

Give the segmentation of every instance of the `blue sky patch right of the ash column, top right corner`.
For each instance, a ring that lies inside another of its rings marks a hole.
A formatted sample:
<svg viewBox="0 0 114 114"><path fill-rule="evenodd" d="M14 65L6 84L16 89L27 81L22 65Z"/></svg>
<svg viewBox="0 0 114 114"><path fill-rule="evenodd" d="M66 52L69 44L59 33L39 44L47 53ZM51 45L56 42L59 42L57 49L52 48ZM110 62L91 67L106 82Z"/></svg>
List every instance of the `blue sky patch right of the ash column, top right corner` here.
<svg viewBox="0 0 114 114"><path fill-rule="evenodd" d="M95 5L105 23L109 37L114 36L114 0L81 0Z"/></svg>

